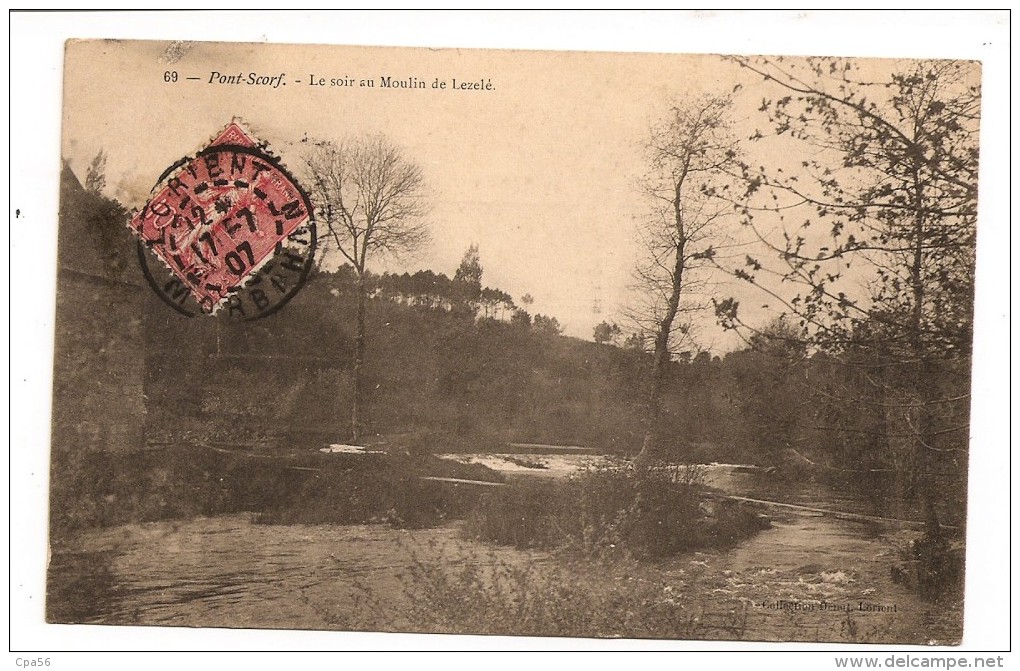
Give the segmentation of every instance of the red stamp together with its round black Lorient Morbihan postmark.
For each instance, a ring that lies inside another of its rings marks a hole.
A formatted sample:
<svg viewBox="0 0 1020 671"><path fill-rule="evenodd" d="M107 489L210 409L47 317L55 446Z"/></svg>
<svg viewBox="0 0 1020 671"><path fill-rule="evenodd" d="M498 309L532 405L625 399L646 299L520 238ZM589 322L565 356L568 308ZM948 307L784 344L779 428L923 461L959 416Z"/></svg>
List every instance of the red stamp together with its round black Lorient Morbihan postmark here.
<svg viewBox="0 0 1020 671"><path fill-rule="evenodd" d="M231 133L233 131L233 133ZM142 272L187 316L258 319L300 291L315 255L308 195L233 125L160 176L133 217Z"/></svg>

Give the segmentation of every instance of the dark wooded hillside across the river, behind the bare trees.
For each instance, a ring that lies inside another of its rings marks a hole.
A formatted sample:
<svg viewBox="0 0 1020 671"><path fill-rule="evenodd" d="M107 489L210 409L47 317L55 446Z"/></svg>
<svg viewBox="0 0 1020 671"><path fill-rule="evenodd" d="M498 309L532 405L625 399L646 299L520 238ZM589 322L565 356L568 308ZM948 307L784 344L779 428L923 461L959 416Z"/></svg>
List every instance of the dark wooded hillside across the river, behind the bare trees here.
<svg viewBox="0 0 1020 671"><path fill-rule="evenodd" d="M442 274L371 279L368 434L417 433L435 449L510 442L640 449L650 355L487 317ZM413 282L419 289L409 291ZM343 440L355 302L354 278L342 268L314 275L287 310L264 320L174 318L148 329L150 347L164 353L150 356L150 421L181 426L188 418L206 435L242 442L275 434L277 447L283 427L319 443ZM966 361L932 370L932 384L965 389ZM909 470L887 427L902 409L874 396L876 374L766 339L723 357L677 357L663 434L678 458ZM898 371L884 374L895 380ZM965 420L942 417L948 428ZM966 435L958 437L965 447Z"/></svg>

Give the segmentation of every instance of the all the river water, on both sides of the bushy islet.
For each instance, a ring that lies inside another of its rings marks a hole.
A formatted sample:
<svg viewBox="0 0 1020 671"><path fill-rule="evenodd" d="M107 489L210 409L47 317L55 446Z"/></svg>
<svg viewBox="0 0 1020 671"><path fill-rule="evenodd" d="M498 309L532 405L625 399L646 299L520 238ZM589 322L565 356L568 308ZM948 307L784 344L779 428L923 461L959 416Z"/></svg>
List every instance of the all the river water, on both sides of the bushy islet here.
<svg viewBox="0 0 1020 671"><path fill-rule="evenodd" d="M538 458L537 458L538 459ZM590 457L542 457L546 476ZM564 461L566 460L566 461ZM571 465L570 460L576 462ZM555 462L555 464L553 463ZM563 463L561 463L563 462ZM519 463L506 462L528 470ZM707 479L754 498L776 492L732 467ZM787 502L868 512L823 487ZM812 512L769 511L772 526L734 548L693 553L642 569L664 599L695 596L719 637L952 643L962 605L928 603L895 584L889 569L916 531ZM415 566L550 561L460 538L454 526L262 525L247 514L129 524L83 532L54 547L48 617L54 622L204 627L414 630L401 615ZM380 619L380 617L382 619ZM735 624L734 624L735 623Z"/></svg>

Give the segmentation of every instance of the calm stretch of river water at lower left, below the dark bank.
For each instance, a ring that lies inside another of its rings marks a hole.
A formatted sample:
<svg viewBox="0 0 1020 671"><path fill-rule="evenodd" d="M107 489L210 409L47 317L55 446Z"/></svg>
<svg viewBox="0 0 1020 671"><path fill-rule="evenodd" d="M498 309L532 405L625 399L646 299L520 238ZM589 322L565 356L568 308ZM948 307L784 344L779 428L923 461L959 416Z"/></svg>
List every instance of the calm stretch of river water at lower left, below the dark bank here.
<svg viewBox="0 0 1020 671"><path fill-rule="evenodd" d="M94 530L71 552L54 554L50 619L347 628L344 613L367 590L399 598L414 557L438 552L454 536L449 527L262 525L246 514ZM79 580L68 583L71 572ZM97 572L104 577L96 579Z"/></svg>

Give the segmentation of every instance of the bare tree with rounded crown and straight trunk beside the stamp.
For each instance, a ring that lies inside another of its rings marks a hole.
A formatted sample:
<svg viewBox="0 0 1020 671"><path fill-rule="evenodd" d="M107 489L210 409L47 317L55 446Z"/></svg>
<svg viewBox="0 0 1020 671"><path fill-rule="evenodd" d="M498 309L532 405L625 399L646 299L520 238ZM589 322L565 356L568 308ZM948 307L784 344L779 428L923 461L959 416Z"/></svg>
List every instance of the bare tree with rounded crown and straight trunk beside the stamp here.
<svg viewBox="0 0 1020 671"><path fill-rule="evenodd" d="M319 142L305 162L322 224L323 252L339 252L358 278L351 404L351 437L356 442L363 421L367 263L427 244L425 184L421 168L379 135Z"/></svg>

